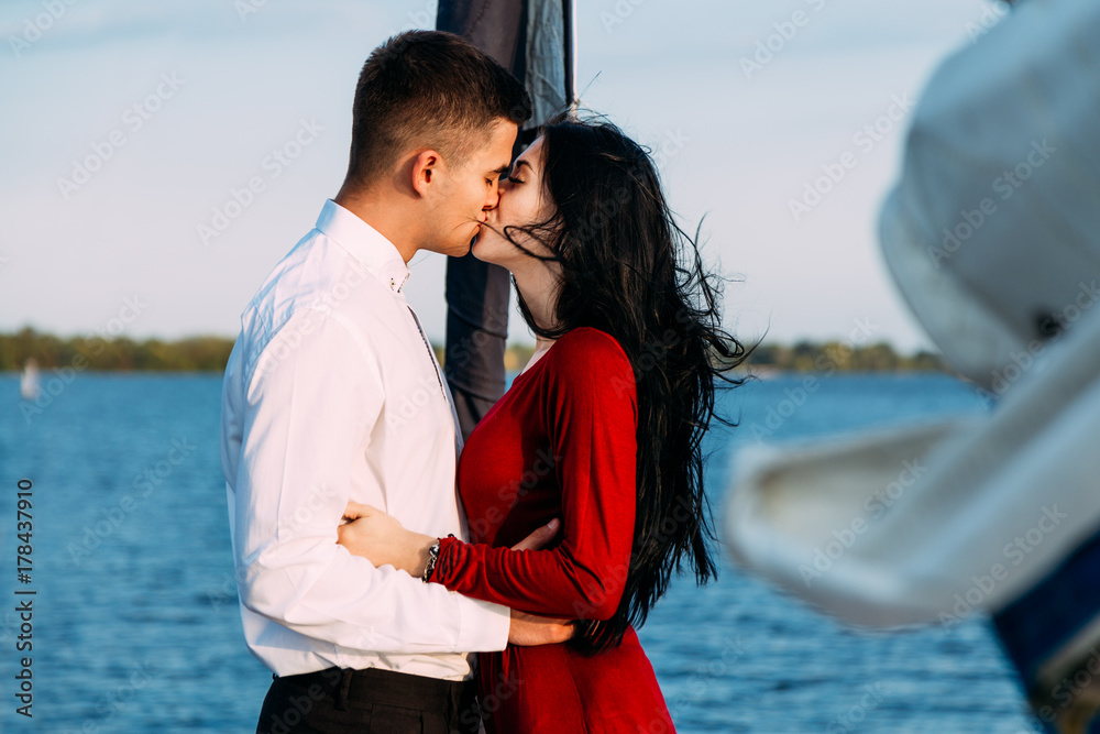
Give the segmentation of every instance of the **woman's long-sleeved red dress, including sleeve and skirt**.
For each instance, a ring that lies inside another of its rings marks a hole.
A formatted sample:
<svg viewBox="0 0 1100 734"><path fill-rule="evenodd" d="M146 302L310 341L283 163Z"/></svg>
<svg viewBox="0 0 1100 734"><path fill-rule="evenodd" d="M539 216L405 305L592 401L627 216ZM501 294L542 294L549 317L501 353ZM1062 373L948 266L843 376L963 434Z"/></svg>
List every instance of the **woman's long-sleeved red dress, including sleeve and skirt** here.
<svg viewBox="0 0 1100 734"><path fill-rule="evenodd" d="M637 413L614 337L585 327L558 339L470 435L458 481L476 545L446 538L431 580L532 614L610 617L634 538ZM557 547L508 550L554 517ZM593 656L482 653L479 684L490 734L674 731L634 628Z"/></svg>

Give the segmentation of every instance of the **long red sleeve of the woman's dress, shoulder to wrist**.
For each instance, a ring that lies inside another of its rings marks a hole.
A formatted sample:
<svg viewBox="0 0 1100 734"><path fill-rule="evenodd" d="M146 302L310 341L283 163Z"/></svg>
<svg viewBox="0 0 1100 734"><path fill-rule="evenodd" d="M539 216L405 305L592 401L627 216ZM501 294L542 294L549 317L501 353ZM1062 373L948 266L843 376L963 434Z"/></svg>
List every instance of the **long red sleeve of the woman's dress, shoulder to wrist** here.
<svg viewBox="0 0 1100 734"><path fill-rule="evenodd" d="M529 419L544 424L557 458L561 543L514 551L444 538L431 581L531 614L607 620L623 595L634 540L634 370L610 335L591 328L561 337L542 359L552 360L544 365L543 415Z"/></svg>

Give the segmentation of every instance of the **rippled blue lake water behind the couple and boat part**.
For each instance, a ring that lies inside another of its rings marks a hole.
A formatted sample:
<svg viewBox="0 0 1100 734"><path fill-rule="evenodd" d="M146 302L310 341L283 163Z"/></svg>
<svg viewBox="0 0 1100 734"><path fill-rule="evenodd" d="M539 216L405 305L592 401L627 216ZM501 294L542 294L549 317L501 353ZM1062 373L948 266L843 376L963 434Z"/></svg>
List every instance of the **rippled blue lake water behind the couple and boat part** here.
<svg viewBox="0 0 1100 734"><path fill-rule="evenodd" d="M50 371L46 380L50 386ZM979 413L935 374L749 383L722 399L741 427L708 441L721 511L738 442ZM254 731L271 673L241 633L218 454L220 374L79 374L24 415L0 375L0 731ZM16 581L16 482L33 481L33 570ZM18 653L14 591L34 590ZM846 628L723 559L681 579L639 631L681 733L1034 732L988 623L901 635ZM32 657L33 719L15 714Z"/></svg>

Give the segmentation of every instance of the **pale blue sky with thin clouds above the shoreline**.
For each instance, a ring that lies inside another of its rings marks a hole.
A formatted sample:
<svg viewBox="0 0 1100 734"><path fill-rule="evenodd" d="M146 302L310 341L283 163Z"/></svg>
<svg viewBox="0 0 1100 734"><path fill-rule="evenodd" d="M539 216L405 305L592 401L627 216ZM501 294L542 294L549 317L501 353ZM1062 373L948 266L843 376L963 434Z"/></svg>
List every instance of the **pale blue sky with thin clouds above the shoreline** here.
<svg viewBox="0 0 1100 734"><path fill-rule="evenodd" d="M704 259L729 278L727 329L932 349L879 254L878 210L923 85L998 6L576 4L582 101L654 151L684 229L702 221ZM435 10L0 3L0 331L235 337L339 189L366 56L432 28ZM831 172L829 190L807 196ZM409 265L406 295L442 343L444 258ZM534 342L515 308L509 337Z"/></svg>

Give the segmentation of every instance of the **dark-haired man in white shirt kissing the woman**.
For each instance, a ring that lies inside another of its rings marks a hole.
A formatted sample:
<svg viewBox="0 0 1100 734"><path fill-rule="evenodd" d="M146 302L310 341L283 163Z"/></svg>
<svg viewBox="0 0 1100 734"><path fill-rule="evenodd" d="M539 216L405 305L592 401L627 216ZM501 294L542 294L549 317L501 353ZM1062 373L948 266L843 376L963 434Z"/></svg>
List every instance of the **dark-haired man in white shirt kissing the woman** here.
<svg viewBox="0 0 1100 734"><path fill-rule="evenodd" d="M360 75L343 186L242 314L221 459L245 638L275 673L260 733L476 731L470 654L570 636L336 543L349 500L466 537L461 431L403 287L419 250L469 251L529 117L460 37L387 41Z"/></svg>

